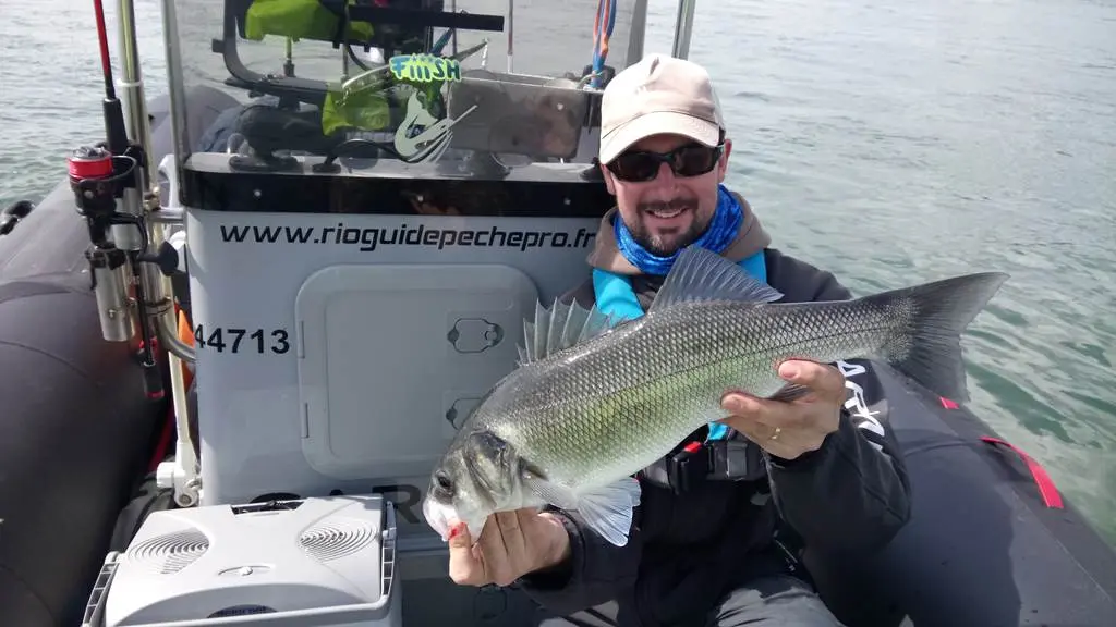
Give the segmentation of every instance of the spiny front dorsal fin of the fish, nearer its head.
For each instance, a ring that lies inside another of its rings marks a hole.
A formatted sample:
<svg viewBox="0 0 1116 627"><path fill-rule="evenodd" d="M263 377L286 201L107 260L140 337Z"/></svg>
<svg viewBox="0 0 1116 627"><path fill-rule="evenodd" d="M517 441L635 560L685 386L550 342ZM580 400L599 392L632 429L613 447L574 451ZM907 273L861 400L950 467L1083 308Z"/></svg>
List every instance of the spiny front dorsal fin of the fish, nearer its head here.
<svg viewBox="0 0 1116 627"><path fill-rule="evenodd" d="M567 305L555 300L549 308L536 302L535 321L523 324L519 365L546 359L555 353L603 336L619 321L618 317L606 316L596 306L586 309L577 301Z"/></svg>

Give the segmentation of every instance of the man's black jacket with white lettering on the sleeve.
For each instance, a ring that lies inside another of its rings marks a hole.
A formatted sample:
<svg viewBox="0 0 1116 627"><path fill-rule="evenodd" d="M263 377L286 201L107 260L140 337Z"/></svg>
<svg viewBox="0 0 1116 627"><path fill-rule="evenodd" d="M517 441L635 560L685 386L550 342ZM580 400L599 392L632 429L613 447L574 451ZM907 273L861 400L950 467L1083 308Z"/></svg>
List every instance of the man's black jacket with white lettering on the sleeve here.
<svg viewBox="0 0 1116 627"><path fill-rule="evenodd" d="M829 272L772 249L766 257L768 282L785 295L782 302L852 298ZM644 309L661 282L633 278ZM591 282L565 299L588 307ZM804 575L796 547L856 559L887 543L910 515L902 453L885 430L887 406L872 365L837 366L848 401L839 430L818 451L790 462L763 455L769 481L700 481L681 494L641 475L643 495L626 546L610 544L576 513L561 512L571 558L521 578L520 588L558 615L615 600L620 626L699 625L752 577Z"/></svg>

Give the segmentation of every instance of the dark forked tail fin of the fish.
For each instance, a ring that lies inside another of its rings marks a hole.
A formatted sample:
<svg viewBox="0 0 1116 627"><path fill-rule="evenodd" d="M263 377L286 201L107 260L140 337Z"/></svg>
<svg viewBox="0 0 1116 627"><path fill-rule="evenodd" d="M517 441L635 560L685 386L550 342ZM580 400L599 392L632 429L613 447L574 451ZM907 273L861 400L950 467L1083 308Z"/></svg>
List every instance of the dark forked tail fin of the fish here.
<svg viewBox="0 0 1116 627"><path fill-rule="evenodd" d="M1002 272L982 272L866 297L899 320L882 357L931 392L969 401L961 336L1007 280Z"/></svg>

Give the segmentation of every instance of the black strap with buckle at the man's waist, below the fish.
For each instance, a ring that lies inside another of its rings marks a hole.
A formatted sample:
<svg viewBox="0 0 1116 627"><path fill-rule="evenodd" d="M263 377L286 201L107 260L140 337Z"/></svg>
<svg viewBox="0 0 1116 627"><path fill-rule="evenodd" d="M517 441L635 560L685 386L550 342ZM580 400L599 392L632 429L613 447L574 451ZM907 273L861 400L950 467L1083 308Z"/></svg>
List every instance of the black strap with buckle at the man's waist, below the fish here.
<svg viewBox="0 0 1116 627"><path fill-rule="evenodd" d="M645 479L675 494L700 481L757 481L767 476L760 447L748 440L691 442L643 471Z"/></svg>

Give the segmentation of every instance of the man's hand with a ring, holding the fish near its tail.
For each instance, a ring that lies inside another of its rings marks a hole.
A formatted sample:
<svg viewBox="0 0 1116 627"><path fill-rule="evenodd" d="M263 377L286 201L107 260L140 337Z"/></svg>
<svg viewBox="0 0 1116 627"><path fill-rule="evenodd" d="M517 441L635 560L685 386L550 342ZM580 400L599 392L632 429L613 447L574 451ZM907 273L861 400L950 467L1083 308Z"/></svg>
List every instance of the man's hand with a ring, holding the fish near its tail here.
<svg viewBox="0 0 1116 627"><path fill-rule="evenodd" d="M820 448L826 436L837 431L845 402L845 377L833 366L801 360L780 364L779 376L809 389L790 402L730 392L721 398L721 407L733 415L721 422L768 453L795 460Z"/></svg>

